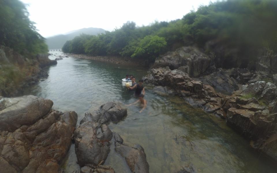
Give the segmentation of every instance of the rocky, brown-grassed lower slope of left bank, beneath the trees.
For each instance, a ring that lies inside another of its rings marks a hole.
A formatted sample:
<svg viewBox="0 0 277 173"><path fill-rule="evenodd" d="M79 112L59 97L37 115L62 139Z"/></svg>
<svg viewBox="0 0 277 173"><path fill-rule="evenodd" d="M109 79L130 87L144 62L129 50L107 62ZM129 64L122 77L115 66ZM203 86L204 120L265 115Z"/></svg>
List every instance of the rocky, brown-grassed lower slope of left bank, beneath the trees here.
<svg viewBox="0 0 277 173"><path fill-rule="evenodd" d="M43 68L53 64L57 64L57 61L48 59L48 55L38 54L27 58L0 46L0 95L20 95L24 87L47 76Z"/></svg>

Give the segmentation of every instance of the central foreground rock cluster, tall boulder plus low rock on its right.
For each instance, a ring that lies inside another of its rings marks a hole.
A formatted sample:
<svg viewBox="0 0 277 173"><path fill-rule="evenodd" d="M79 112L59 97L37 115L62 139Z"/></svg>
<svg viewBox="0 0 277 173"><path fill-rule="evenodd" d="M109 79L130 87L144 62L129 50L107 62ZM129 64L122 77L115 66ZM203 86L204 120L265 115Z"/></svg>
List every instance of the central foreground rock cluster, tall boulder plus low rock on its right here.
<svg viewBox="0 0 277 173"><path fill-rule="evenodd" d="M115 172L113 168L102 165L110 153L112 139L115 142L115 151L126 159L132 172L149 172L143 148L140 145L130 147L123 144L122 138L106 125L109 122L121 121L125 116L127 110L114 102L108 102L99 110L85 114L74 132L75 153L81 172Z"/></svg>

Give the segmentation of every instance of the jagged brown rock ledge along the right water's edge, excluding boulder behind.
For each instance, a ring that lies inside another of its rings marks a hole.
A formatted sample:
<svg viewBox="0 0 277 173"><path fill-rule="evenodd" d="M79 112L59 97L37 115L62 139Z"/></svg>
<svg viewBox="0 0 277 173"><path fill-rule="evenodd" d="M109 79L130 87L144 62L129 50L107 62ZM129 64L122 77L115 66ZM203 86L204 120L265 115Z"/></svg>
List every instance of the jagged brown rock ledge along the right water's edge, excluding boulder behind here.
<svg viewBox="0 0 277 173"><path fill-rule="evenodd" d="M251 75L241 73L239 78ZM248 77L247 77L248 76ZM253 76L252 76L253 77ZM255 81L257 78L247 81ZM256 76L257 77L257 76ZM277 161L277 87L271 82L257 81L242 86L226 96L212 86L193 80L188 74L169 67L151 69L145 82L174 90L194 107L213 113L240 134L252 140L251 145Z"/></svg>

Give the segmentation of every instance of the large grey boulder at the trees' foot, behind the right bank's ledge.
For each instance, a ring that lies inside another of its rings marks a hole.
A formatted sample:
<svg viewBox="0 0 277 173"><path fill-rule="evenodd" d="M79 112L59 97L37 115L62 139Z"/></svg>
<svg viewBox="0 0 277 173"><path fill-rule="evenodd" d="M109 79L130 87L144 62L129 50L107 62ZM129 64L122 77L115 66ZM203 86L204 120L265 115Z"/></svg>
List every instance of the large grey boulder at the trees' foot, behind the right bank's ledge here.
<svg viewBox="0 0 277 173"><path fill-rule="evenodd" d="M212 63L211 57L196 47L181 47L173 52L156 59L153 68L169 67L171 70L179 69L190 76L203 74Z"/></svg>

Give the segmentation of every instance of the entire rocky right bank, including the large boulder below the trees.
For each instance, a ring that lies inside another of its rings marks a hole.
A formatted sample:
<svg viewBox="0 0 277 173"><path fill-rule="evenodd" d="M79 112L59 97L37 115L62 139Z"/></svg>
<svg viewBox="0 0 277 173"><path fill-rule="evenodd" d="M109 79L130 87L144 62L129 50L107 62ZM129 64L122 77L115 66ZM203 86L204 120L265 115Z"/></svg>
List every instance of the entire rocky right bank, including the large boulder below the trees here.
<svg viewBox="0 0 277 173"><path fill-rule="evenodd" d="M221 69L211 56L183 47L159 57L153 67L160 68L151 69L143 80L159 92L179 95L190 105L225 119L253 148L277 161L276 74L269 73L275 67L268 64L269 58L259 59L258 72ZM270 69L261 71L261 66Z"/></svg>

